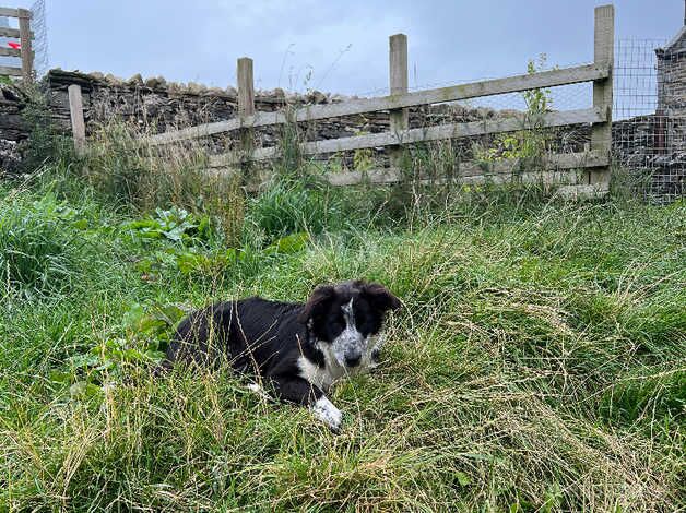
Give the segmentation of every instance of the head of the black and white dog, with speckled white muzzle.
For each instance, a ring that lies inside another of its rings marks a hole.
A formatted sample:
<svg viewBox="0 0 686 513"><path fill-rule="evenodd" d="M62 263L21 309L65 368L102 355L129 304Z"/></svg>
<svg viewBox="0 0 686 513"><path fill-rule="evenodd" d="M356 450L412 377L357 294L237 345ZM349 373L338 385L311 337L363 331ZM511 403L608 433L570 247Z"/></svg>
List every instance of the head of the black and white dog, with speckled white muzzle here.
<svg viewBox="0 0 686 513"><path fill-rule="evenodd" d="M317 287L298 319L318 341L331 344L340 366L353 368L374 350L386 312L399 308L382 285L354 281Z"/></svg>

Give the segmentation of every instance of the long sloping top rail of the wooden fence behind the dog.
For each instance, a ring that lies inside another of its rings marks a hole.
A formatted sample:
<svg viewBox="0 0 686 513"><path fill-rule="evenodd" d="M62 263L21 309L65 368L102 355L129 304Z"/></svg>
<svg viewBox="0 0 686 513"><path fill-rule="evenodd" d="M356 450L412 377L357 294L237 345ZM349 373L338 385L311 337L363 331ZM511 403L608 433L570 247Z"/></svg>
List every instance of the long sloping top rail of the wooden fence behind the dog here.
<svg viewBox="0 0 686 513"><path fill-rule="evenodd" d="M381 96L378 98L363 98L328 105L312 105L297 109L292 119L295 121L311 121L317 119L335 118L356 114L376 112L380 110L416 107L427 104L440 104L480 96L493 96L540 87L576 84L606 79L610 68L595 64L583 64L560 70L543 71L539 73L510 76L507 79L487 80L450 87L417 91L399 95ZM258 128L272 124L283 124L288 118L283 112L257 112L255 116L234 118L227 121L217 121L199 124L182 130L170 131L152 135L142 140L150 145L167 144L176 141L202 138L216 133L232 132L241 128ZM395 143L397 144L397 143Z"/></svg>

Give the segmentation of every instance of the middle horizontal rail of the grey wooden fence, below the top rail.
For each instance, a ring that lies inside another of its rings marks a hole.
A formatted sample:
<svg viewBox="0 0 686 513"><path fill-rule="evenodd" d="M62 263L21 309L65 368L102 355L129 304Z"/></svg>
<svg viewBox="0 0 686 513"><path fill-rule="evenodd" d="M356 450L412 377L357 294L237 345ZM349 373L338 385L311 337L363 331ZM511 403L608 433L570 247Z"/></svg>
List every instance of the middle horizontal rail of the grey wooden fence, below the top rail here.
<svg viewBox="0 0 686 513"><path fill-rule="evenodd" d="M590 108L567 110L545 114L541 116L541 119L534 120L533 122L528 122L524 119L513 117L499 120L472 121L468 123L438 124L435 127L405 130L398 133L382 132L367 135L355 135L351 138L329 139L326 141L315 141L300 144L300 152L304 155L316 155L363 150L368 147L385 147L398 144L486 135L489 133L514 132L531 128L598 123L604 120L605 116L600 111L600 109ZM247 159L269 160L271 158L279 157L279 147L263 147L252 152L252 155L250 155ZM234 154L212 155L210 157L210 167L230 166L240 160L241 158Z"/></svg>

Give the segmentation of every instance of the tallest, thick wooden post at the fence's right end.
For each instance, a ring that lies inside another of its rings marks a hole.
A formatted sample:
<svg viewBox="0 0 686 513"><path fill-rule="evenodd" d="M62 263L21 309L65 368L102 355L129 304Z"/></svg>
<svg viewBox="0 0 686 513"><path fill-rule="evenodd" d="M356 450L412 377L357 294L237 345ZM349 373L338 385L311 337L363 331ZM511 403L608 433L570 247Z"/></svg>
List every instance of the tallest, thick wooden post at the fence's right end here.
<svg viewBox="0 0 686 513"><path fill-rule="evenodd" d="M593 107L599 108L606 116L602 123L593 124L591 129L591 150L601 156L611 155L612 150L612 85L614 67L615 40L615 8L600 5L595 8L594 26L594 58L596 65L606 67L610 75L606 79L593 82ZM610 184L610 166L594 168L589 171L589 183L598 186Z"/></svg>

